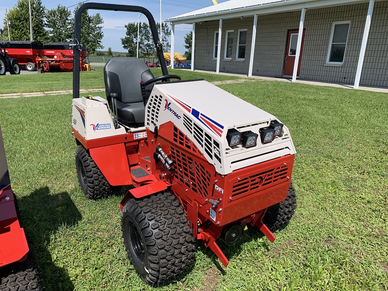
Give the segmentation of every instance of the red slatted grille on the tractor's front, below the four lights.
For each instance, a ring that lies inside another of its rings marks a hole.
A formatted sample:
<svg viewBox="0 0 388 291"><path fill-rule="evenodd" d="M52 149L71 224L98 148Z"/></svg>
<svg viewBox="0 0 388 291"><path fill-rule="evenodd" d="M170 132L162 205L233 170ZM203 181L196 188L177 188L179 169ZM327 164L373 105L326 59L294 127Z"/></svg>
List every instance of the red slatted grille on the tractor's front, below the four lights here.
<svg viewBox="0 0 388 291"><path fill-rule="evenodd" d="M232 196L250 194L251 192L257 192L261 188L268 188L273 183L287 180L287 173L288 166L283 166L242 178L233 184Z"/></svg>

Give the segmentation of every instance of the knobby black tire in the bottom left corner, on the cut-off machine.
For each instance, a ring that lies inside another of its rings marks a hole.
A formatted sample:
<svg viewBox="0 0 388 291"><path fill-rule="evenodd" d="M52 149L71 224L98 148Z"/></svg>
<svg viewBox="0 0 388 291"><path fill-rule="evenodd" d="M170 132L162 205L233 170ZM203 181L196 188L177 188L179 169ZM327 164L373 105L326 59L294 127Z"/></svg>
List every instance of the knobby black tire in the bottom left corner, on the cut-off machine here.
<svg viewBox="0 0 388 291"><path fill-rule="evenodd" d="M0 269L1 291L41 291L36 265L31 255L23 262L15 262Z"/></svg>

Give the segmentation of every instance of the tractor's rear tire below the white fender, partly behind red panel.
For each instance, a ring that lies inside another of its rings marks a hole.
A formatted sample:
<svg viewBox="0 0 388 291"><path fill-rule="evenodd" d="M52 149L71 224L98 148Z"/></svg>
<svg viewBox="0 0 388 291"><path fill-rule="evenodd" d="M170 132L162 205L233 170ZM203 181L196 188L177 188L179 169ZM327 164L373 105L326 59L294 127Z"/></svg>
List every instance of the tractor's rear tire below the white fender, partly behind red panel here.
<svg viewBox="0 0 388 291"><path fill-rule="evenodd" d="M75 162L78 181L86 198L94 200L105 198L120 190L121 186L109 184L83 146L77 148Z"/></svg>

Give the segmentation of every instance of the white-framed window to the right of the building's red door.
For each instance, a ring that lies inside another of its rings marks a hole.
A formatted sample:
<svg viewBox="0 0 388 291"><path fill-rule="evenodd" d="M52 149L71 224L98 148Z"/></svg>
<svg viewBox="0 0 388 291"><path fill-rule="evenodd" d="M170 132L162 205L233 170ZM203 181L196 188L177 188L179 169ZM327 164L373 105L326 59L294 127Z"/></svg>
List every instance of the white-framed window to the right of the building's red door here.
<svg viewBox="0 0 388 291"><path fill-rule="evenodd" d="M331 28L330 45L327 52L328 64L343 64L348 41L350 21L334 22Z"/></svg>

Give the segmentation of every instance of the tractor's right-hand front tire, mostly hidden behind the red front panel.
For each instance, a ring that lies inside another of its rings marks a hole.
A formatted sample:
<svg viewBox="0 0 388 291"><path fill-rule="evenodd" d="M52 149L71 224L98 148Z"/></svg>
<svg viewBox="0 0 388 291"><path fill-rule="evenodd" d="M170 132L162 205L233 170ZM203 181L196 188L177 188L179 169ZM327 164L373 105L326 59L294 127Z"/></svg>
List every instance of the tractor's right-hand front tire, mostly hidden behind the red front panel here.
<svg viewBox="0 0 388 291"><path fill-rule="evenodd" d="M296 209L296 194L295 189L290 183L290 188L287 193L287 198L280 203L277 203L268 208L264 215L263 223L274 231L287 226Z"/></svg>

